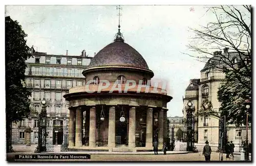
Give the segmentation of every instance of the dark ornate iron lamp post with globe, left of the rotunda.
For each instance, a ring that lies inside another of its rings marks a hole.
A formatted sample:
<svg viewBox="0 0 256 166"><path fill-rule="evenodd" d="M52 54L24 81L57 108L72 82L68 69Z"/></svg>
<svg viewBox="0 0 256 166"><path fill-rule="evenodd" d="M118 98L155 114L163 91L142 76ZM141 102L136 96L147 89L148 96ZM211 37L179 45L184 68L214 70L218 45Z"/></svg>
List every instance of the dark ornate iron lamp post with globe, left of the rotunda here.
<svg viewBox="0 0 256 166"><path fill-rule="evenodd" d="M42 109L39 114L39 124L38 124L38 151L46 152L46 127L47 127L47 111L46 111L46 100L45 98L41 101Z"/></svg>

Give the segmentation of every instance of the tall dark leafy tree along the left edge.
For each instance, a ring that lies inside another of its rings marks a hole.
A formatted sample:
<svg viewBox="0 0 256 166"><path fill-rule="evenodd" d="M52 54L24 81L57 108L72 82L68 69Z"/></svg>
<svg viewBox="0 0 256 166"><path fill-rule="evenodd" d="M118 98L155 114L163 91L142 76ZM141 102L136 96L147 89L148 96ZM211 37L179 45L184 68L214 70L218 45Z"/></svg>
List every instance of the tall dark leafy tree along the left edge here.
<svg viewBox="0 0 256 166"><path fill-rule="evenodd" d="M17 21L5 17L5 66L6 66L6 151L12 151L12 122L22 120L30 112L31 92L23 86L25 81L25 61L31 57L26 45L27 34Z"/></svg>

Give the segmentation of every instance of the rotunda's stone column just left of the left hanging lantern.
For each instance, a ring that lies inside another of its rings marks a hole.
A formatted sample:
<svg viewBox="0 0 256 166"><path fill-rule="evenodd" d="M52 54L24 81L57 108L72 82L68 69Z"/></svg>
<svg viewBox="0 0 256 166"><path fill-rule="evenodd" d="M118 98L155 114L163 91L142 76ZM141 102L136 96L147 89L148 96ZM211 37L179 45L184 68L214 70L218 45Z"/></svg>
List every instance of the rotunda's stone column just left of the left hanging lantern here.
<svg viewBox="0 0 256 166"><path fill-rule="evenodd" d="M95 147L96 144L96 108L90 108L90 133L89 147Z"/></svg>

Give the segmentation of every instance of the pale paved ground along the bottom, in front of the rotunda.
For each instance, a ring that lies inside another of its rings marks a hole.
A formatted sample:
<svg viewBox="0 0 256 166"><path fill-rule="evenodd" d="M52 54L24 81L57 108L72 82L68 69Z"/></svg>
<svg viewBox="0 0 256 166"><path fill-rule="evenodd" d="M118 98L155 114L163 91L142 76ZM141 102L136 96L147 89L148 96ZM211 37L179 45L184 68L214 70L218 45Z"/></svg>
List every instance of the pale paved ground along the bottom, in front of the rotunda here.
<svg viewBox="0 0 256 166"><path fill-rule="evenodd" d="M15 153L7 154L7 158L14 158ZM134 155L134 154L91 154L91 159L76 160L34 160L34 161L204 161L202 153L167 154L167 155ZM24 161L24 160L23 160ZM31 161L31 160L30 160ZM219 161L219 153L211 154L211 161ZM226 159L223 154L223 161L240 161L240 155Z"/></svg>

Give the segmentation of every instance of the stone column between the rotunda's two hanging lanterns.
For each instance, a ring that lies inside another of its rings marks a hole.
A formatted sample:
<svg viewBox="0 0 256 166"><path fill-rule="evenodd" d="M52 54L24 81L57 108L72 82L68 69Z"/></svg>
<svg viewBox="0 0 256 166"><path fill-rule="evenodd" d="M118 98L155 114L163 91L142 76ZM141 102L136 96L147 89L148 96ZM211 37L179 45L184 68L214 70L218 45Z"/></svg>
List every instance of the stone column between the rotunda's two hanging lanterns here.
<svg viewBox="0 0 256 166"><path fill-rule="evenodd" d="M115 107L110 107L108 147L115 148L115 145L116 145L115 139L116 139L116 110L115 110Z"/></svg>

